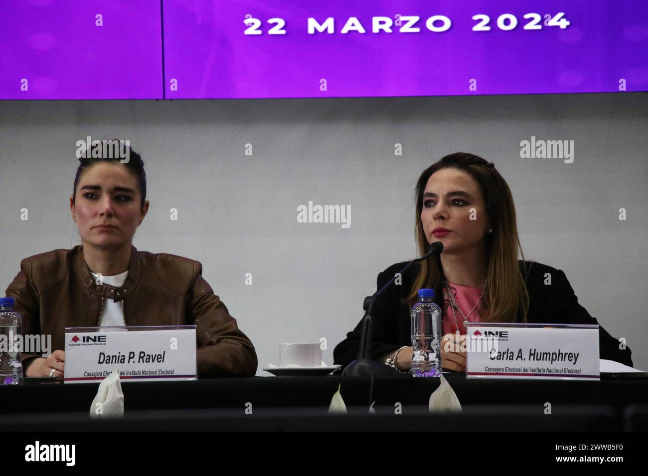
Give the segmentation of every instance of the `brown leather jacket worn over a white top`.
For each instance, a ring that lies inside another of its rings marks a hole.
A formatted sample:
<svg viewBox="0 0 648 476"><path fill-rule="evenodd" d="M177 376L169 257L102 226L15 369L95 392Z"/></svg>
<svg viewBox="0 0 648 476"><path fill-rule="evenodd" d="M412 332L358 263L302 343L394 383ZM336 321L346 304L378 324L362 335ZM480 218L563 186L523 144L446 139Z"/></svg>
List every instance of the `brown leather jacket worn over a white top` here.
<svg viewBox="0 0 648 476"><path fill-rule="evenodd" d="M237 321L202 277L202 264L182 256L137 251L115 288L95 284L83 247L30 256L6 289L23 317L23 335L51 334L65 350L66 327L98 326L105 299L124 301L127 326L196 324L198 377L253 376L257 354ZM23 354L23 364L36 354Z"/></svg>

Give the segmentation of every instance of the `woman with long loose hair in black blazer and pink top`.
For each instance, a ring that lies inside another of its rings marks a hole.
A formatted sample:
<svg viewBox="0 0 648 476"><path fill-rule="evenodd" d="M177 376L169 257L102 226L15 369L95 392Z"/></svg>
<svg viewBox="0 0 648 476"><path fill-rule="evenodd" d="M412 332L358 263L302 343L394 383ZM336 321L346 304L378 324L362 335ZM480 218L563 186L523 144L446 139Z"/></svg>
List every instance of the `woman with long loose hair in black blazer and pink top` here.
<svg viewBox="0 0 648 476"><path fill-rule="evenodd" d="M465 372L465 352L445 343L465 335L466 321L597 324L579 304L564 272L524 260L513 196L494 164L470 153L446 155L421 174L416 196L419 252L425 255L439 241L443 253L412 266L376 299L372 359L395 360L399 370L410 369L410 309L421 288L434 289L434 300L443 310L444 370ZM380 273L378 289L405 264ZM334 363L345 367L356 359L360 328L358 323L336 346ZM632 366L630 348L602 327L599 342L601 359Z"/></svg>

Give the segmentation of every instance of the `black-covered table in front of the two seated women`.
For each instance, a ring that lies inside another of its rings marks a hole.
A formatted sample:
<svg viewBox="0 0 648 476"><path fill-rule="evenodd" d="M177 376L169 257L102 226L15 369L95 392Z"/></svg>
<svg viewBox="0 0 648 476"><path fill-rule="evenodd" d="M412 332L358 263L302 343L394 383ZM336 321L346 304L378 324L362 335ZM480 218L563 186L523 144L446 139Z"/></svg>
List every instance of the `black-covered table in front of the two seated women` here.
<svg viewBox="0 0 648 476"><path fill-rule="evenodd" d="M621 413L648 403L648 380L494 380L445 374L465 405L607 405ZM175 382L122 381L126 411L170 409L279 409L328 407L340 393L347 407L408 408L428 405L437 378L253 377ZM0 414L88 412L98 383L33 384L0 387Z"/></svg>

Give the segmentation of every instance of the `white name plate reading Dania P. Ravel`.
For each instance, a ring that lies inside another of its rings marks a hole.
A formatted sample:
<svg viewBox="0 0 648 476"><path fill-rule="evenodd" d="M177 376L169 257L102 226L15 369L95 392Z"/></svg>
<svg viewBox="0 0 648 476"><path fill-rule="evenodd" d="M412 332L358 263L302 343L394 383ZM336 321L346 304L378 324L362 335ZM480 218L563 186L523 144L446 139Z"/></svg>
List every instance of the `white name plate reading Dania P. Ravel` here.
<svg viewBox="0 0 648 476"><path fill-rule="evenodd" d="M64 383L196 380L196 326L65 328Z"/></svg>

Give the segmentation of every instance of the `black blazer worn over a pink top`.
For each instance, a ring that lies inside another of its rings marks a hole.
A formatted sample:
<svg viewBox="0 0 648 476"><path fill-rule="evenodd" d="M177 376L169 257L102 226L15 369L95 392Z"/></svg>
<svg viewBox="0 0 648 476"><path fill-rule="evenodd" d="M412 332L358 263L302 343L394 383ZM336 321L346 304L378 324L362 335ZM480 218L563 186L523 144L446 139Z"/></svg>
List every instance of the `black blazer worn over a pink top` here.
<svg viewBox="0 0 648 476"><path fill-rule="evenodd" d="M378 275L378 289L382 288L395 273L398 273L407 263L398 263L389 266ZM527 289L529 290L529 323L552 323L552 324L598 324L574 295L573 289L565 273L545 264L520 260L520 271L524 276L524 268L527 267L529 277ZM382 296L380 296L371 312L371 358L386 352L397 350L406 345L411 346L410 330L410 308L407 304L400 302L411 291L411 286L420 265L415 264L407 273L402 275L402 284L392 285ZM551 285L544 284L545 273L551 274ZM443 303L435 302L443 309ZM522 316L518 315L518 322ZM347 334L347 338L341 341L333 350L335 364L346 367L358 356L360 346L360 328L362 320L356 328ZM599 327L599 350L601 359L614 360L632 367L631 350L629 347L619 349L619 341L608 334L603 327Z"/></svg>

